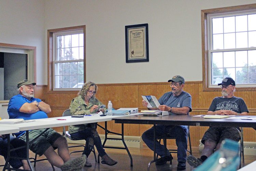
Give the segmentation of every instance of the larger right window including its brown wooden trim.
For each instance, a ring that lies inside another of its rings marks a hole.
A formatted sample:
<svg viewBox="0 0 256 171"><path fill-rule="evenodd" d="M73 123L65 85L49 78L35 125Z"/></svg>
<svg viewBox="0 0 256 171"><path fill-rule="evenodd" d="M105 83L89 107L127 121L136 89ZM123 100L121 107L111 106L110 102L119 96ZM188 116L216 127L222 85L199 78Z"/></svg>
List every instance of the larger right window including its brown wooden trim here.
<svg viewBox="0 0 256 171"><path fill-rule="evenodd" d="M204 90L217 88L224 77L232 77L236 87L256 87L256 5L202 14Z"/></svg>

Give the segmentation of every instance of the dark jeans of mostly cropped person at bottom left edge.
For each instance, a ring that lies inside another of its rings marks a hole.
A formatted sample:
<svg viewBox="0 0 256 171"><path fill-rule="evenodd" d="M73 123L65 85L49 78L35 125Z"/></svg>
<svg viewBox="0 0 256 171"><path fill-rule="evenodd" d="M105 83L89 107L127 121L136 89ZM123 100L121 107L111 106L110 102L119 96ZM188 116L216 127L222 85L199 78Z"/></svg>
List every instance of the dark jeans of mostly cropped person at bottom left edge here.
<svg viewBox="0 0 256 171"><path fill-rule="evenodd" d="M11 145L10 145L11 149L26 145L25 141L20 140L18 138L15 138L13 136L10 136L10 141L11 141ZM7 158L7 153L8 153L7 149L8 149L7 138L0 138L0 155L4 156L4 159ZM26 158L26 155L27 155L26 148L20 148L20 149L17 149L15 151L12 151L10 153L10 155L12 157L23 157L23 158ZM9 162L10 162L10 165L13 168L16 168L16 169L23 166L21 160L17 159L17 158L10 158Z"/></svg>

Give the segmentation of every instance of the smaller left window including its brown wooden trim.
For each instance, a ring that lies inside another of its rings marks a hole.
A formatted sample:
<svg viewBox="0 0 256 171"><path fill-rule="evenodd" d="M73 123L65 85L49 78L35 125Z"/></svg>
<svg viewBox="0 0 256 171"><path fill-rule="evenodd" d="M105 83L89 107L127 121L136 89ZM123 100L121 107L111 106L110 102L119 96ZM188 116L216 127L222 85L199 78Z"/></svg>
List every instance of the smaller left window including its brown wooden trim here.
<svg viewBox="0 0 256 171"><path fill-rule="evenodd" d="M53 47L52 90L78 90L82 87L85 81L84 31L85 26L48 30Z"/></svg>

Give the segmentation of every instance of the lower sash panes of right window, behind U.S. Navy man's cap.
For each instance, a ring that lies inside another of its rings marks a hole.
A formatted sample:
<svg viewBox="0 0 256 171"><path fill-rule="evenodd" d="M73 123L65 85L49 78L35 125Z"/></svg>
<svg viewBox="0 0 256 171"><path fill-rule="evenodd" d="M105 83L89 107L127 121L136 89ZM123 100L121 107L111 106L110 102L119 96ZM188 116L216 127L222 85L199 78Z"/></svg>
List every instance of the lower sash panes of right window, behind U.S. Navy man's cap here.
<svg viewBox="0 0 256 171"><path fill-rule="evenodd" d="M221 83L224 77L232 77L237 85L256 84L256 50L225 53L227 52L211 53L212 85ZM226 67L225 58L230 58L226 61L231 61Z"/></svg>

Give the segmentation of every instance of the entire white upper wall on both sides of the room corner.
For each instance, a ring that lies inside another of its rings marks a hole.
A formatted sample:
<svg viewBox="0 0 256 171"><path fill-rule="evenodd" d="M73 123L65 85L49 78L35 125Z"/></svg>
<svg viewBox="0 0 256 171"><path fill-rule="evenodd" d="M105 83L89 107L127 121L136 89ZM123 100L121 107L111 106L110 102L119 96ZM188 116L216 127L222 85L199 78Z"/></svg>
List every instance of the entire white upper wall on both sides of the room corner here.
<svg viewBox="0 0 256 171"><path fill-rule="evenodd" d="M38 84L47 84L47 29L79 25L86 25L86 81L165 82L176 74L201 81L201 10L251 3L255 0L0 0L0 42L37 46ZM125 26L143 23L150 61L126 63Z"/></svg>

